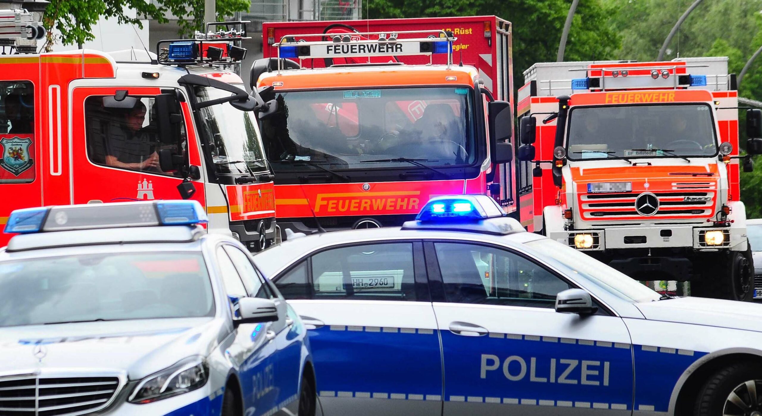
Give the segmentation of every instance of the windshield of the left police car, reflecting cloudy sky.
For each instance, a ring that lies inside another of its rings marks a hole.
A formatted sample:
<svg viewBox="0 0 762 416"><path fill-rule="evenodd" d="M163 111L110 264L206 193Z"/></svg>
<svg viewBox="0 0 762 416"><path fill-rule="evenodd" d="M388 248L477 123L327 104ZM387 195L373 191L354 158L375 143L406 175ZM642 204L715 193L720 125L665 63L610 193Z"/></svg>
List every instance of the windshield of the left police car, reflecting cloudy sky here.
<svg viewBox="0 0 762 416"><path fill-rule="evenodd" d="M0 263L0 327L213 316L200 253L88 254Z"/></svg>

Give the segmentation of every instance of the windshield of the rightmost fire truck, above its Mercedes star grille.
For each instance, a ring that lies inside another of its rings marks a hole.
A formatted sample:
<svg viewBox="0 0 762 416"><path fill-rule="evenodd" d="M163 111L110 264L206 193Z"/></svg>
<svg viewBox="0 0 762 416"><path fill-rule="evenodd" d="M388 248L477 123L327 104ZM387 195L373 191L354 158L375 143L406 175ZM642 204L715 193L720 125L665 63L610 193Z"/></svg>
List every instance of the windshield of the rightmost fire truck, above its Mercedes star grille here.
<svg viewBox="0 0 762 416"><path fill-rule="evenodd" d="M570 160L717 154L706 104L573 108L567 146Z"/></svg>

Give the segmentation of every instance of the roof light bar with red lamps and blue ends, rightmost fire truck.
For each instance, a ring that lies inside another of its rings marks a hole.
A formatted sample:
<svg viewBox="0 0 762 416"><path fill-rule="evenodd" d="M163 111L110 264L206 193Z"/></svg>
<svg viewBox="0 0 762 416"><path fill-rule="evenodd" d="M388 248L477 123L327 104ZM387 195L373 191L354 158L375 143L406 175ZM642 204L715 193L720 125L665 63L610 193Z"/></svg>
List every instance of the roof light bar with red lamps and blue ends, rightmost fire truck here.
<svg viewBox="0 0 762 416"><path fill-rule="evenodd" d="M687 65L626 65L580 68L570 71L587 71L587 78L571 80L572 90L627 90L644 88L687 88L706 86L706 75L687 74Z"/></svg>

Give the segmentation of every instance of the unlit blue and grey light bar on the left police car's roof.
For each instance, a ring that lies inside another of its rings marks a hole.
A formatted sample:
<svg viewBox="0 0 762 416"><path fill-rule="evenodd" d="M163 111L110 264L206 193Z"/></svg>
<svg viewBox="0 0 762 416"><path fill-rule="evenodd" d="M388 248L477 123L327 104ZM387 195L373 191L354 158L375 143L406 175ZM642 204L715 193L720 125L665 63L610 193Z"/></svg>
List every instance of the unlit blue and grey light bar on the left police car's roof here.
<svg viewBox="0 0 762 416"><path fill-rule="evenodd" d="M60 205L11 212L8 224L5 224L5 233L196 225L207 222L207 213L197 201Z"/></svg>

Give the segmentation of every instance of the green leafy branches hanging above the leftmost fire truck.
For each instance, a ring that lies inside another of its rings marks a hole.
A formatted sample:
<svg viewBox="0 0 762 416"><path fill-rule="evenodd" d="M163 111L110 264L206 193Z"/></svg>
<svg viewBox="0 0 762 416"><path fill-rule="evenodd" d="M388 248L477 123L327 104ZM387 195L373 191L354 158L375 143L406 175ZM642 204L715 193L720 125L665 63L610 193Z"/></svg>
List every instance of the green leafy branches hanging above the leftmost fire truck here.
<svg viewBox="0 0 762 416"><path fill-rule="evenodd" d="M236 11L248 10L248 0L216 0L217 20L230 16ZM125 11L137 11L137 17L130 17ZM168 21L167 15L179 17L181 35L203 30L203 0L50 0L43 23L50 28L48 50L53 43L75 45L94 40L92 27L101 17L113 17L120 24L134 24L142 28L140 19L153 19L159 23Z"/></svg>

